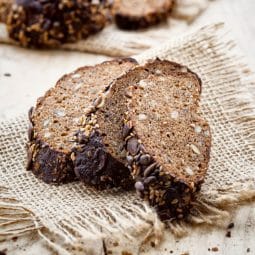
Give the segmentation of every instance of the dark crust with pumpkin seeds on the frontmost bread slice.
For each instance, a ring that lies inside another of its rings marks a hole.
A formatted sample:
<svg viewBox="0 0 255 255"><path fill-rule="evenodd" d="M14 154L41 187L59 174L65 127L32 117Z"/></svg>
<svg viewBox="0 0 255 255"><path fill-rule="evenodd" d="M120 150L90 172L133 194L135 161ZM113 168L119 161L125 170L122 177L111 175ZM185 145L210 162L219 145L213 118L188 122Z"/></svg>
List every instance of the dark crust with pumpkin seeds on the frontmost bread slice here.
<svg viewBox="0 0 255 255"><path fill-rule="evenodd" d="M148 70L148 66L153 67L154 65L157 67L160 62L157 59L155 62L151 62L143 68ZM162 62L167 63L168 61ZM171 62L168 63L176 67L176 71L173 71L174 75L179 74L181 78L181 73L178 69L187 70L194 77L197 77L201 86L201 80L196 74L190 72L188 68ZM135 102L132 103L136 89L131 87L131 90L133 93L131 92L127 97L128 111L124 120L123 134L127 152L127 166L136 180L135 188L137 193L158 211L162 220L185 218L192 208L192 202L195 200L196 193L201 188L205 177L204 173L195 176L196 178L192 181L187 181L182 174L176 175L164 169L164 166L155 158L155 151L151 148L146 148L143 143L144 140L137 133L139 130L137 130L134 119L132 118L135 113L134 108L136 107ZM201 89L199 90L201 91ZM192 109L191 116L187 118L197 121L208 132L208 137L204 138L206 148L204 155L205 162L203 162L208 166L211 147L210 128L208 123L197 113L198 102L190 109Z"/></svg>

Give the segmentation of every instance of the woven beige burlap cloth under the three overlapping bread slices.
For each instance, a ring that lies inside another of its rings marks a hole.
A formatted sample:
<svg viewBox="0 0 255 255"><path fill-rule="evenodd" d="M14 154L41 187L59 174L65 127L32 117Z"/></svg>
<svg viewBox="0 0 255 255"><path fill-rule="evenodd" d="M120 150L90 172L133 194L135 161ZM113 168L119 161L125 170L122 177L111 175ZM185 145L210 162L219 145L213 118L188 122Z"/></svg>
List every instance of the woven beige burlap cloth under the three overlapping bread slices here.
<svg viewBox="0 0 255 255"><path fill-rule="evenodd" d="M0 124L0 237L37 231L60 254L103 254L106 240L159 243L165 231L188 233L194 224L222 224L233 207L255 198L254 90L222 24L173 39L135 56L180 62L203 81L201 111L212 129L210 167L185 222L168 222L134 192L96 191L81 183L51 186L25 171L27 118ZM96 242L96 245L95 245ZM79 253L80 252L80 253ZM136 253L134 253L136 254Z"/></svg>

